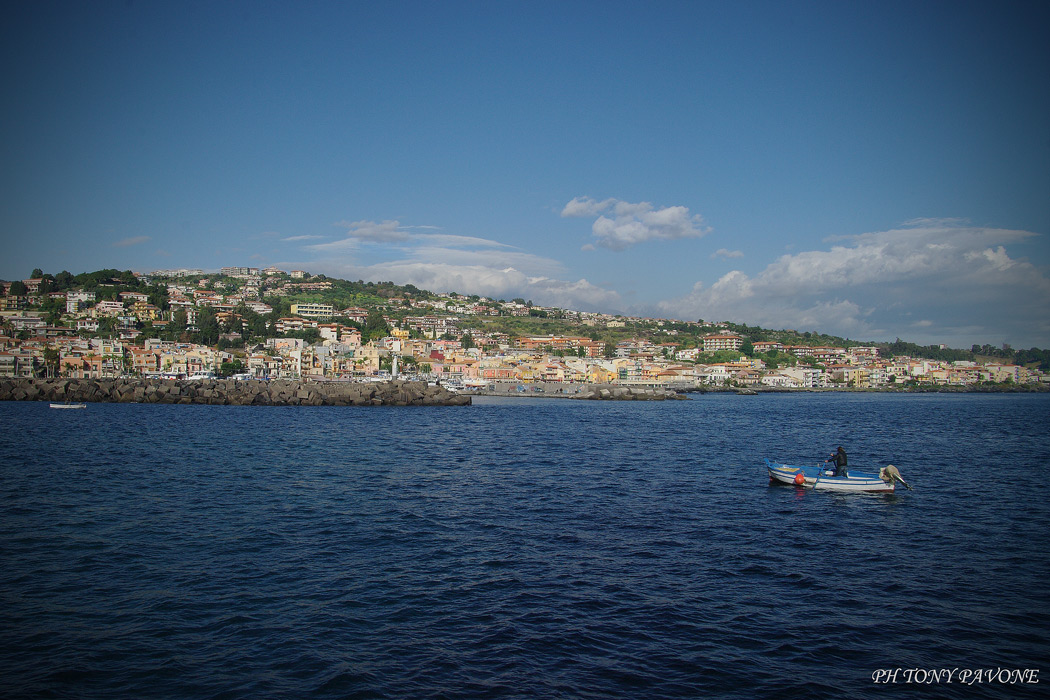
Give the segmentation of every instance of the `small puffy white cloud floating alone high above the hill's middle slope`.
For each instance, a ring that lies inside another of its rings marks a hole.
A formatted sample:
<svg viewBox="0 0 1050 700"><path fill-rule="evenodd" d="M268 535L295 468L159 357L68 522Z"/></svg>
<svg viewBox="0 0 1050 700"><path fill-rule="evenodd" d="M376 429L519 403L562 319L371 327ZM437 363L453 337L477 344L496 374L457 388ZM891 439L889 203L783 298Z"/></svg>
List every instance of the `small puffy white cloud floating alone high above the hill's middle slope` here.
<svg viewBox="0 0 1050 700"><path fill-rule="evenodd" d="M597 201L590 197L573 197L562 209L562 216L597 216L591 225L591 233L598 246L614 251L647 240L699 238L710 232L702 226L700 215L690 214L687 207L655 209L648 201L633 204L612 198Z"/></svg>

